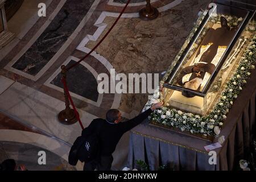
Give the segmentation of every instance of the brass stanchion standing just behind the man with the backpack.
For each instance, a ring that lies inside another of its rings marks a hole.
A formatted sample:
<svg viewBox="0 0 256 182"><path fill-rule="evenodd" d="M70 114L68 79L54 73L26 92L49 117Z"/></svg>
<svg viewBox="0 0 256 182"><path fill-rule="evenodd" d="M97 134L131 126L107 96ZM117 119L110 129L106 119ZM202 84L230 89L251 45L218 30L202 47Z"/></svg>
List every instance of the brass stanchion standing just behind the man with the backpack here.
<svg viewBox="0 0 256 182"><path fill-rule="evenodd" d="M67 69L65 65L61 66L61 75L63 79L66 79L67 76ZM59 122L63 123L64 125L72 125L73 123L77 122L75 111L70 108L68 94L64 88L64 97L65 97L65 106L66 108L58 114Z"/></svg>

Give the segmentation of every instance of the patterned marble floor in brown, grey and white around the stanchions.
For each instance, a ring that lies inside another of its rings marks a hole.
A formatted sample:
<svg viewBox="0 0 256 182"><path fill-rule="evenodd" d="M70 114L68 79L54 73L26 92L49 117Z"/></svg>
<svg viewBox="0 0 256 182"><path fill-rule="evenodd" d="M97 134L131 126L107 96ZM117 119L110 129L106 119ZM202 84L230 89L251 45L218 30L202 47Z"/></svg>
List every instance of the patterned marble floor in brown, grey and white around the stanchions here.
<svg viewBox="0 0 256 182"><path fill-rule="evenodd" d="M47 16L42 18L36 18L35 2L25 2L18 15L31 16L31 19L18 21L13 16L9 25L16 38L0 49L0 141L7 148L20 148L17 151L22 153L38 150L35 147L47 140L48 145L44 147L53 152L49 155L52 158L58 155L59 158L46 168L40 168L24 156L27 165L38 170L64 170L67 169L68 150L61 152L61 147L52 148L52 143L70 148L80 135L81 127L79 123L64 126L57 121L57 114L65 108L60 66L76 63L90 52L115 22L126 1L48 0L44 1ZM104 118L110 108L119 109L126 119L137 115L146 104L148 94L99 94L97 76L101 73L110 75L112 68L125 74L166 71L195 23L198 12L208 3L208 0L154 0L152 5L160 11L159 17L143 21L139 19L138 11L145 2L131 1L104 42L68 72L68 87L83 125L88 126L94 118ZM26 13L28 8L33 9L30 15ZM15 30L15 27L20 29ZM17 136L26 135L26 139L14 136L14 140L6 135L8 130ZM33 136L40 140L32 140ZM129 133L118 143L113 169L126 165L128 146ZM26 162L21 154L18 157L11 150L6 150L6 153Z"/></svg>

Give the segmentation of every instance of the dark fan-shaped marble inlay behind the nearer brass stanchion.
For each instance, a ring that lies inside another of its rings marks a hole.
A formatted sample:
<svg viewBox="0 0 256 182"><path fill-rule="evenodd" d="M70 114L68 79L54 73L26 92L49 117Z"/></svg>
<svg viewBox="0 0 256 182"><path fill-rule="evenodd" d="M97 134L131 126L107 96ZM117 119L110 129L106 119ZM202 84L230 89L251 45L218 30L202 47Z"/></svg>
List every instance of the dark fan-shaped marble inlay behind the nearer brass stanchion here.
<svg viewBox="0 0 256 182"><path fill-rule="evenodd" d="M76 62L71 60L68 63L68 66L74 63ZM51 84L59 86L60 88L63 88L63 83L60 81L60 78L61 78L61 73L59 73L59 75L57 75L57 77L51 81ZM97 102L98 100L97 80L92 75L92 73L83 65L79 64L68 71L67 83L68 83L68 89L70 92L76 93L79 96L82 96L82 97L88 98L89 100Z"/></svg>

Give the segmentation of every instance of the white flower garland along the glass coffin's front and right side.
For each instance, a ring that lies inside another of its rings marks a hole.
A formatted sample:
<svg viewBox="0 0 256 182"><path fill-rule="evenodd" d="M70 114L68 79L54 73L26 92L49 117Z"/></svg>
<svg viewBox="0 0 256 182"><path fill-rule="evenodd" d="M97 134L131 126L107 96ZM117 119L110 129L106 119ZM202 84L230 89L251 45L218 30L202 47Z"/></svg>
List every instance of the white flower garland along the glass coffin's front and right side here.
<svg viewBox="0 0 256 182"><path fill-rule="evenodd" d="M175 127L181 131L189 131L191 133L200 133L203 135L220 134L221 126L226 119L226 114L232 107L234 100L238 97L243 86L246 84L251 75L251 70L255 69L256 62L256 36L251 40L250 46L247 48L244 57L233 77L226 83L226 88L221 94L216 106L206 117L194 115L192 113L183 113L180 110L162 107L155 110L150 115L150 120L160 123L166 127ZM146 104L144 110L151 107L152 104L159 101L159 88L155 90L150 102Z"/></svg>

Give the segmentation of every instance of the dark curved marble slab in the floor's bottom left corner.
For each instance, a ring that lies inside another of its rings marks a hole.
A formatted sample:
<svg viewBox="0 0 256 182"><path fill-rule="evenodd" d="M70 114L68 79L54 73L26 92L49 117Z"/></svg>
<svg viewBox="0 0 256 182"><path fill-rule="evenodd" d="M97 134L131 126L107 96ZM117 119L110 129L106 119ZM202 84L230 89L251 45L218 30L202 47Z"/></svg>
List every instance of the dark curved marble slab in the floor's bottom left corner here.
<svg viewBox="0 0 256 182"><path fill-rule="evenodd" d="M46 152L46 165L38 164L39 151ZM27 143L0 141L0 156L0 163L5 159L14 159L16 164L24 164L29 171L76 171L75 167L53 152Z"/></svg>

